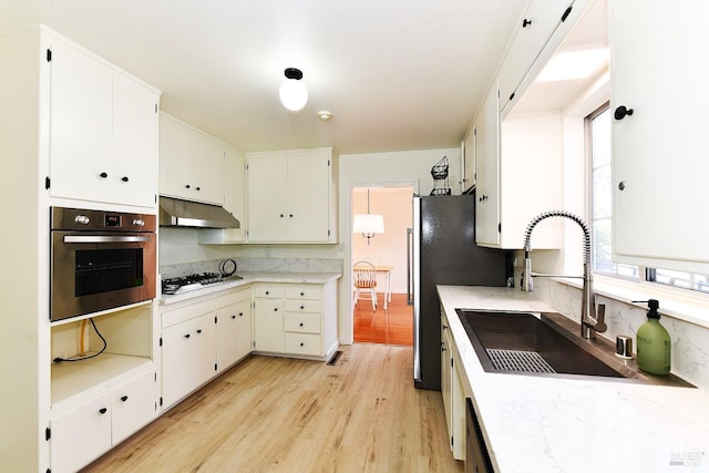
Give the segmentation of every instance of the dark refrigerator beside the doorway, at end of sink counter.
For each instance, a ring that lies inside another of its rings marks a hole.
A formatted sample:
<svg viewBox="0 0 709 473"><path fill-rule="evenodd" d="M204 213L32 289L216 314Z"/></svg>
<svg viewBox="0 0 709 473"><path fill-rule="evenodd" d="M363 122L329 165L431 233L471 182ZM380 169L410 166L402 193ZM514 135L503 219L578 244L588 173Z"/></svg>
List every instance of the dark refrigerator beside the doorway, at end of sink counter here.
<svg viewBox="0 0 709 473"><path fill-rule="evenodd" d="M419 389L440 390L441 316L435 286L505 286L511 274L508 256L475 245L474 193L414 197L410 234L413 380Z"/></svg>

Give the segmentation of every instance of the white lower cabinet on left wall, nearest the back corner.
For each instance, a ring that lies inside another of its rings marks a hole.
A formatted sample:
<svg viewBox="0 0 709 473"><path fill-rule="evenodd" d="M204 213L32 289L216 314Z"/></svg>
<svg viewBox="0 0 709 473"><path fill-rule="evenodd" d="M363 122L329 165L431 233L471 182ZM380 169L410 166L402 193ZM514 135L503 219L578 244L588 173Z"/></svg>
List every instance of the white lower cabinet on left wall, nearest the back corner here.
<svg viewBox="0 0 709 473"><path fill-rule="evenodd" d="M251 290L217 297L217 372L251 352Z"/></svg>

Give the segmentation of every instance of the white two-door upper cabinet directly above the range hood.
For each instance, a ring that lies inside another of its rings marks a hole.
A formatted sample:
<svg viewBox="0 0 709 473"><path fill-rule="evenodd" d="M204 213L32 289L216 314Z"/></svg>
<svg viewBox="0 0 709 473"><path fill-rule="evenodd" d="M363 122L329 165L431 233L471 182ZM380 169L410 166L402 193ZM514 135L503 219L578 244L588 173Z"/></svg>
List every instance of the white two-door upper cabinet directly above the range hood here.
<svg viewBox="0 0 709 473"><path fill-rule="evenodd" d="M217 140L161 113L160 194L224 205L224 154Z"/></svg>

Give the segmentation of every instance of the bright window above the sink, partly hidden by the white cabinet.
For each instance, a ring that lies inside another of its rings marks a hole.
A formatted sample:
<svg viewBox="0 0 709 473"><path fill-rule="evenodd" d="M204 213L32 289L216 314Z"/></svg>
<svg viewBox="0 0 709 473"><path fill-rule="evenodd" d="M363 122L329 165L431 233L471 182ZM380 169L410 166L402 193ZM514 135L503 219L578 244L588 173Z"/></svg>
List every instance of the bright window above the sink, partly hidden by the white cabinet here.
<svg viewBox="0 0 709 473"><path fill-rule="evenodd" d="M612 260L612 142L610 107L606 102L590 113L586 120L588 143L588 174L590 179L590 226L593 232L592 260L595 274L648 281L709 292L709 275L674 271L660 268L614 263Z"/></svg>

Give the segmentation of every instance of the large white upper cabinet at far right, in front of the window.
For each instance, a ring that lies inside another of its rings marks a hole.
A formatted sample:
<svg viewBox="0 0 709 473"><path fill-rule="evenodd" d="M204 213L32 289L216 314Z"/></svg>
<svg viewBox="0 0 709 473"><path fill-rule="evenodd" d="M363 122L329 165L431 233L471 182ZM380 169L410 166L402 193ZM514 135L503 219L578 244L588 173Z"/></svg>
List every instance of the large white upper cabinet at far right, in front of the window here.
<svg viewBox="0 0 709 473"><path fill-rule="evenodd" d="M709 176L709 2L612 0L609 11L614 260L709 273L709 219L697 210Z"/></svg>

